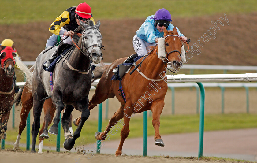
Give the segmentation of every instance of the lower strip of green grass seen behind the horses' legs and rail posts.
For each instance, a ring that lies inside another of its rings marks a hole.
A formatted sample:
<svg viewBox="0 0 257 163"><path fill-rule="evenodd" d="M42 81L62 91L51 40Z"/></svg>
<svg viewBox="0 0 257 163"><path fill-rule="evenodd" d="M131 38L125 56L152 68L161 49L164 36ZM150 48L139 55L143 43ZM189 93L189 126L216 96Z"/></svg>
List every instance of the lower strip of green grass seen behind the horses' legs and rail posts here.
<svg viewBox="0 0 257 163"><path fill-rule="evenodd" d="M257 127L257 118L256 114L212 114L205 115L204 118L204 131L214 131L214 130L228 130L228 129L242 129L242 128L256 128ZM154 135L154 128L152 126L152 118L148 117L147 135ZM165 134L174 134L174 133L188 133L188 132L199 132L199 115L169 115L161 116L160 120L160 133L161 135ZM75 146L95 143L96 139L94 137L95 132L97 131L97 121L88 120L84 124L80 138L76 141ZM102 131L105 129L108 124L108 120L103 120L102 122ZM120 127L122 124L118 123ZM73 126L73 130L76 127ZM114 135L109 134L110 140L120 139L120 131L116 127L117 133ZM115 130L116 130L115 129ZM142 137L143 136L143 118L137 117L130 120L129 125L130 133L128 138ZM17 138L18 129L7 130L7 139L8 142L15 142ZM63 129L61 129L61 144L64 142L63 138ZM26 128L24 133L21 136L20 143L26 143ZM37 142L38 144L38 142ZM45 146L56 146L56 136L50 135L50 139L44 141Z"/></svg>

